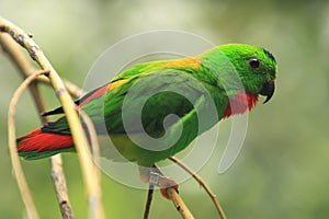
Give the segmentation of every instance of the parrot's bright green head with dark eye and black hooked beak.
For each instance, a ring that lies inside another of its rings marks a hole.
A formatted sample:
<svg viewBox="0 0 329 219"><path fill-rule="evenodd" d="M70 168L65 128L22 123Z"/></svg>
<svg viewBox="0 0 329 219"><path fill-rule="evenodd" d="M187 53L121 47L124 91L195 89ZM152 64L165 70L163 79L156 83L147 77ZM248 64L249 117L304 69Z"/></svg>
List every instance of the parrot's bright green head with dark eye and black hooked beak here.
<svg viewBox="0 0 329 219"><path fill-rule="evenodd" d="M227 76L219 76L220 83L227 90L242 89L251 94L264 95L266 96L264 103L272 97L275 88L276 60L266 49L245 44L227 44L209 50L204 58L212 66L215 66L214 62L217 64L216 66L220 62L222 65L218 66L220 74L236 72L239 82L226 80ZM240 84L237 85L238 83Z"/></svg>

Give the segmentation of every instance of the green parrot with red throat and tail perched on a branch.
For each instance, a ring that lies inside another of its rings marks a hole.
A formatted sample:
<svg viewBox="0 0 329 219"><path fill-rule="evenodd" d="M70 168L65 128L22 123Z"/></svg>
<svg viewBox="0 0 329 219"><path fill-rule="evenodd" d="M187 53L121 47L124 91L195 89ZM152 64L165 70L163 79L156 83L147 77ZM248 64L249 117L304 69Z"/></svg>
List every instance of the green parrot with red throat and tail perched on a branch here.
<svg viewBox="0 0 329 219"><path fill-rule="evenodd" d="M75 103L123 158L150 168L185 149L220 119L251 111L259 95L270 101L276 69L274 56L262 47L224 44L194 57L136 64ZM42 115L57 114L64 114L63 107ZM156 141L144 141L145 136ZM16 143L26 160L76 151L65 115L19 137Z"/></svg>

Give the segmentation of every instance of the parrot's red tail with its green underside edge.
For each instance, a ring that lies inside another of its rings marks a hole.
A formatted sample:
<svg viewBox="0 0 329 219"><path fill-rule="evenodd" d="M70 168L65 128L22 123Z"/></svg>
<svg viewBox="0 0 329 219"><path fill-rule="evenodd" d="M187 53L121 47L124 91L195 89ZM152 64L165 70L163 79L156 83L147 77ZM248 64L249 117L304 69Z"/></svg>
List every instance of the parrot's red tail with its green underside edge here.
<svg viewBox="0 0 329 219"><path fill-rule="evenodd" d="M45 132L38 128L16 139L19 154L27 160L47 158L65 151L75 151L71 135Z"/></svg>

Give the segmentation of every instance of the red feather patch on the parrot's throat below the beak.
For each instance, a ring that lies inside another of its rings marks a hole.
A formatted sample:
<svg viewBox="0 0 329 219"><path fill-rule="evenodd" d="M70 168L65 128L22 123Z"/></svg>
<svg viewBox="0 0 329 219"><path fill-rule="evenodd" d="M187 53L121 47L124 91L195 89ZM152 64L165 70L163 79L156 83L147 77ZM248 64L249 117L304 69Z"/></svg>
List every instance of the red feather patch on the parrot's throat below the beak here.
<svg viewBox="0 0 329 219"><path fill-rule="evenodd" d="M229 99L229 103L224 112L223 118L251 111L257 103L257 94L239 92L235 97Z"/></svg>

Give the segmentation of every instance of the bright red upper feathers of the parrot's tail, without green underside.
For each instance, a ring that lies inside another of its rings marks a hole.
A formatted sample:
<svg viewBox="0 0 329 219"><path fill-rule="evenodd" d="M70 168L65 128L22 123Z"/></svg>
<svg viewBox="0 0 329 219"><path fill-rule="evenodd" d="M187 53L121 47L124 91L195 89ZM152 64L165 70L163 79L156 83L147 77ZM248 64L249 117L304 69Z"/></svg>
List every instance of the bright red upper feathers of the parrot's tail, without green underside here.
<svg viewBox="0 0 329 219"><path fill-rule="evenodd" d="M20 137L18 143L18 151L46 151L72 147L73 141L70 135L47 134L36 129Z"/></svg>

